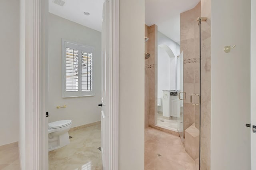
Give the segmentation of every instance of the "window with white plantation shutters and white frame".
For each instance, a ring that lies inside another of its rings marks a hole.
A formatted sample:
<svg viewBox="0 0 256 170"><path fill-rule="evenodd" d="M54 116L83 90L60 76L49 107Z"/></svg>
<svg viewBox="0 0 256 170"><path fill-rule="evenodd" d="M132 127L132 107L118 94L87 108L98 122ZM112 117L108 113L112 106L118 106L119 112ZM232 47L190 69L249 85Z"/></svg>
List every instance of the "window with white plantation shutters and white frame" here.
<svg viewBox="0 0 256 170"><path fill-rule="evenodd" d="M62 40L62 97L93 95L93 48Z"/></svg>

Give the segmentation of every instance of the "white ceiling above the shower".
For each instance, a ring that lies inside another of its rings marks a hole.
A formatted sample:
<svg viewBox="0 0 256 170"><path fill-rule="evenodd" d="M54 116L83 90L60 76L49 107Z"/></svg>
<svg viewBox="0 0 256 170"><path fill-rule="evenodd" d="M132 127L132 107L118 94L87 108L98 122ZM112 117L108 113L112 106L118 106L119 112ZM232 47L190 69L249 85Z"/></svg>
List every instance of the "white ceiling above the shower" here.
<svg viewBox="0 0 256 170"><path fill-rule="evenodd" d="M200 0L145 0L145 23L156 24L158 31L179 43L180 13L194 8L198 2Z"/></svg>

